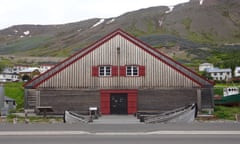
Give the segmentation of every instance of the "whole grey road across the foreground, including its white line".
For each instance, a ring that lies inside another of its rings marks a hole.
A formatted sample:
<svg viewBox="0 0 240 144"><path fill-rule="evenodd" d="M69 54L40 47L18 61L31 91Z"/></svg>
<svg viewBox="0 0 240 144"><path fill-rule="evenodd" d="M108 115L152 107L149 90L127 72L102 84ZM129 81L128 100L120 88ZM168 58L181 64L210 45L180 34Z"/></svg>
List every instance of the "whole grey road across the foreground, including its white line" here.
<svg viewBox="0 0 240 144"><path fill-rule="evenodd" d="M240 123L1 124L0 144L239 144Z"/></svg>

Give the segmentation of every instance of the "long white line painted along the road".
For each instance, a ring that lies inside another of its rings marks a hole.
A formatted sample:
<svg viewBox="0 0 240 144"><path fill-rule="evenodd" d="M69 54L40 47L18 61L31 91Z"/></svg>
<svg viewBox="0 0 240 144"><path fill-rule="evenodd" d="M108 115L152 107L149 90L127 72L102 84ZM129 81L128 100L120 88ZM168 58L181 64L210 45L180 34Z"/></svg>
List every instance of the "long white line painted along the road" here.
<svg viewBox="0 0 240 144"><path fill-rule="evenodd" d="M240 135L240 131L153 131L153 132L97 132L87 131L0 131L0 136L51 135Z"/></svg>

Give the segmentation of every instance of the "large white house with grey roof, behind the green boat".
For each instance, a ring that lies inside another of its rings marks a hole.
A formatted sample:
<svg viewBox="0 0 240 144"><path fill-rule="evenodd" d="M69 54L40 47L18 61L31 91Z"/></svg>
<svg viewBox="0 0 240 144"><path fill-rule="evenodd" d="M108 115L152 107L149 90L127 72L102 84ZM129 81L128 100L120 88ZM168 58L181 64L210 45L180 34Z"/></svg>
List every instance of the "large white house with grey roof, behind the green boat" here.
<svg viewBox="0 0 240 144"><path fill-rule="evenodd" d="M210 74L213 80L230 80L232 78L232 70L230 68L210 68L206 72Z"/></svg>

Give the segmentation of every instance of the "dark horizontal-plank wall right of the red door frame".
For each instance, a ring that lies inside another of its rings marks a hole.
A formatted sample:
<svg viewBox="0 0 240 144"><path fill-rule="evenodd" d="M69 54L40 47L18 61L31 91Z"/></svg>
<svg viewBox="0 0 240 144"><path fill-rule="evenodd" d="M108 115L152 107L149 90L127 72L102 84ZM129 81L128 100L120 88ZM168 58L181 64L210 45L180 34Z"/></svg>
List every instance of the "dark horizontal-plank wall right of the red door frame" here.
<svg viewBox="0 0 240 144"><path fill-rule="evenodd" d="M138 91L139 111L166 111L197 103L197 89L143 89Z"/></svg>

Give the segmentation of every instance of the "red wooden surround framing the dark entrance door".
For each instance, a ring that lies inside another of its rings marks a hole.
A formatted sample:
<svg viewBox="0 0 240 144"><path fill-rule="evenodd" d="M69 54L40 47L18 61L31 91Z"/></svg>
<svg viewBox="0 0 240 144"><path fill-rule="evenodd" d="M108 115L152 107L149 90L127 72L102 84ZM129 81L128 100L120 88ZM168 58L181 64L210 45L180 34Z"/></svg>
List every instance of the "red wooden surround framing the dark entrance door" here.
<svg viewBox="0 0 240 144"><path fill-rule="evenodd" d="M110 114L110 95L114 93L127 93L128 114L137 112L137 90L100 90L100 111L102 114Z"/></svg>

